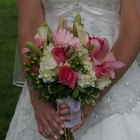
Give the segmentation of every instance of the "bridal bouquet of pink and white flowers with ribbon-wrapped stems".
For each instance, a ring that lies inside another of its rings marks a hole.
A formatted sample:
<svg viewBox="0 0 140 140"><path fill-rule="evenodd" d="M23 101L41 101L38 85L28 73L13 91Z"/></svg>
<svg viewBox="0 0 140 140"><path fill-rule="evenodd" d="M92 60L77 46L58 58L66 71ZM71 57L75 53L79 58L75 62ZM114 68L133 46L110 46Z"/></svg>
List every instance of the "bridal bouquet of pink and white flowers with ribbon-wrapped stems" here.
<svg viewBox="0 0 140 140"><path fill-rule="evenodd" d="M74 139L69 128L80 123L80 107L95 105L102 90L115 78L114 70L125 66L109 51L107 39L91 36L83 26L80 14L71 27L62 17L55 30L44 23L35 35L35 43L27 42L22 49L27 57L26 76L39 91L39 99L66 102L75 114L65 122L65 135L60 139Z"/></svg>

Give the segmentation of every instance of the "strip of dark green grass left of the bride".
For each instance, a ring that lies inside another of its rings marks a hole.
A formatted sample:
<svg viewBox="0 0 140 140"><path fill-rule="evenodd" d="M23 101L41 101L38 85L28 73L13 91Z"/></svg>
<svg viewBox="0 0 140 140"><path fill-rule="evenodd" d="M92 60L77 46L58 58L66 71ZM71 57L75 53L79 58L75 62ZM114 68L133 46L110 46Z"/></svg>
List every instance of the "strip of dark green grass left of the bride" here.
<svg viewBox="0 0 140 140"><path fill-rule="evenodd" d="M4 140L21 88L12 85L17 44L15 0L0 0L0 140Z"/></svg>

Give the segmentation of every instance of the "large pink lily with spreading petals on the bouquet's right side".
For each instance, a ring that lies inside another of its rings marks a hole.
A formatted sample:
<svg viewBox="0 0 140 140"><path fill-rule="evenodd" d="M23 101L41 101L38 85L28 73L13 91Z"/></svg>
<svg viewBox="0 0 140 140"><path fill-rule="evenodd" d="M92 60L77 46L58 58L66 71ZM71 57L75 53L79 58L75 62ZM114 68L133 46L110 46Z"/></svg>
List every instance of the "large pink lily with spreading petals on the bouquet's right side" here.
<svg viewBox="0 0 140 140"><path fill-rule="evenodd" d="M94 48L90 52L90 57L93 61L93 69L96 77L109 76L115 78L115 69L125 66L124 63L117 61L114 53L109 51L109 43L106 39L89 38L87 46L93 44Z"/></svg>

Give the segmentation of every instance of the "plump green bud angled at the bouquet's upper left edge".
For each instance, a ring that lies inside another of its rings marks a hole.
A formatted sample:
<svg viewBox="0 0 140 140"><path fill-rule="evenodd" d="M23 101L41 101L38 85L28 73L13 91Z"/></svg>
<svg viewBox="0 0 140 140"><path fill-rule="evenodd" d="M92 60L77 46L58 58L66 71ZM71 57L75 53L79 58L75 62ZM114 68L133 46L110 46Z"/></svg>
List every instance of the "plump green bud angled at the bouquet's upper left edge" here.
<svg viewBox="0 0 140 140"><path fill-rule="evenodd" d="M43 55L42 51L32 42L27 41L26 42L26 47L33 51L34 53L36 53L37 55L39 55L40 57Z"/></svg>

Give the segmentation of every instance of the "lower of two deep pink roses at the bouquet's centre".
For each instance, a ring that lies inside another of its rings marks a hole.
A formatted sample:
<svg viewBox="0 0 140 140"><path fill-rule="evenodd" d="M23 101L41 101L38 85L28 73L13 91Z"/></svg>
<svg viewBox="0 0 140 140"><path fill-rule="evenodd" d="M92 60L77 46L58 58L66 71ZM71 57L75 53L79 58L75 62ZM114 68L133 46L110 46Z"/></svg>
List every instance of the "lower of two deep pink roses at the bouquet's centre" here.
<svg viewBox="0 0 140 140"><path fill-rule="evenodd" d="M72 89L75 88L76 81L78 78L77 72L70 69L70 67L64 65L62 67L59 67L58 75L59 83L68 85Z"/></svg>

